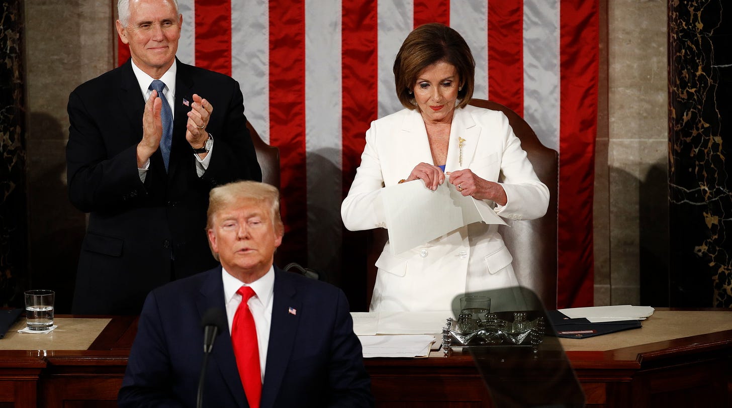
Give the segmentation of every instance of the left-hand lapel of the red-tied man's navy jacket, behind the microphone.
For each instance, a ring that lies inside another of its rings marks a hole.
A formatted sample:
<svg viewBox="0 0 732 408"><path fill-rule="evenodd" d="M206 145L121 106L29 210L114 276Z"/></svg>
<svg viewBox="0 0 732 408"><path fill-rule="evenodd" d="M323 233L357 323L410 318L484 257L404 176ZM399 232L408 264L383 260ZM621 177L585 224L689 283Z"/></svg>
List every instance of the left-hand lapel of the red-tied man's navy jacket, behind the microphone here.
<svg viewBox="0 0 732 408"><path fill-rule="evenodd" d="M198 299L196 300L196 306L198 307L199 320L212 307L221 309L224 314L226 313L224 285L221 280L220 266L212 270L209 276L206 277L206 281L203 283ZM239 369L236 368L234 349L231 347L231 333L228 330L220 333L214 342L214 348L209 357L207 373L209 377L218 373L231 391L231 398L239 404L239 407L247 406L247 398L244 396L242 380L239 378Z"/></svg>

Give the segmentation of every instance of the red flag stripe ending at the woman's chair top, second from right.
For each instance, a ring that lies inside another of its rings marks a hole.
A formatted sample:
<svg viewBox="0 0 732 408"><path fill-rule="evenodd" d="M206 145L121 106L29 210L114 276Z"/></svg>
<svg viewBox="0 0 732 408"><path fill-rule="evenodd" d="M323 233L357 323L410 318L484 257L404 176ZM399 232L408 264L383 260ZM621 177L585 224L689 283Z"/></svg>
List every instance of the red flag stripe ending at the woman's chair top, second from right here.
<svg viewBox="0 0 732 408"><path fill-rule="evenodd" d="M523 1L488 1L488 99L523 116Z"/></svg>

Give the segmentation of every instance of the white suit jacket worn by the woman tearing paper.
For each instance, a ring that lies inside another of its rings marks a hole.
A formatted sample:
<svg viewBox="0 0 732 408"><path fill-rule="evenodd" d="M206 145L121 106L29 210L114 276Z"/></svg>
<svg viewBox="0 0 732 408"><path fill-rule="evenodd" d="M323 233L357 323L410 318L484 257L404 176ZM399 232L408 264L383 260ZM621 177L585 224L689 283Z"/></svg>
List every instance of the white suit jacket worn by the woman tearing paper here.
<svg viewBox="0 0 732 408"><path fill-rule="evenodd" d="M458 137L465 140L462 165ZM361 165L341 206L346 228L388 228L381 189L407 178L419 162L432 163L425 122L419 112L405 109L373 121L366 132ZM508 202L496 205L496 214L520 220L546 213L549 189L537 178L502 112L471 105L455 109L445 171L465 168L501 183ZM386 243L376 261L378 273L370 309L450 310L453 298L466 290L517 286L512 260L497 226L482 222L460 227L396 256Z"/></svg>

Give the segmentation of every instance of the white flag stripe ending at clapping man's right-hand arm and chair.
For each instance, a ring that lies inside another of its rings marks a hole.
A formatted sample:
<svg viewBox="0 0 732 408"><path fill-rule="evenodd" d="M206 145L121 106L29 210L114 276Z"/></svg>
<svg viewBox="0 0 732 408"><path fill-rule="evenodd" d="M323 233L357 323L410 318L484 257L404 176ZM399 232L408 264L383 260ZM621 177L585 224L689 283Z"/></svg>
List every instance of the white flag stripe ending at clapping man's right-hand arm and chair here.
<svg viewBox="0 0 732 408"><path fill-rule="evenodd" d="M269 2L231 7L231 76L244 94L244 114L269 143Z"/></svg>

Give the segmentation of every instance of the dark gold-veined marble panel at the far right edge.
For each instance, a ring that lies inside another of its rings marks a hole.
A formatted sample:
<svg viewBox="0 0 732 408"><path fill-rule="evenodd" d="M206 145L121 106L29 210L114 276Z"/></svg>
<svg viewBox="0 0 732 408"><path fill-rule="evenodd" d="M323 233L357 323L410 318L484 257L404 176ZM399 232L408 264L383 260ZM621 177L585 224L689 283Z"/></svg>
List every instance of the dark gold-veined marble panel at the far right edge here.
<svg viewBox="0 0 732 408"><path fill-rule="evenodd" d="M732 307L732 4L668 10L671 306Z"/></svg>

